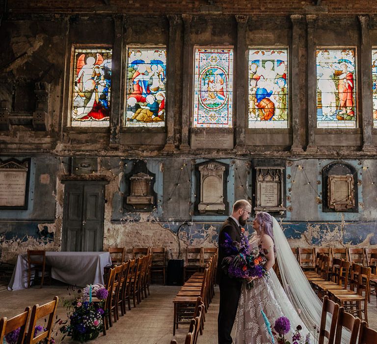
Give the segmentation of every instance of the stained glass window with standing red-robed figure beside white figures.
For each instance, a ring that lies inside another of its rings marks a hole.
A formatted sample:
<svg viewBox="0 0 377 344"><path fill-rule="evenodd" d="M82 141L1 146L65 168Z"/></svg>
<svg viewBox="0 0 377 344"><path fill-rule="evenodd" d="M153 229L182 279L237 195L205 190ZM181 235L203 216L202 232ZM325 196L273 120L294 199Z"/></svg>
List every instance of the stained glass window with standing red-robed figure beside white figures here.
<svg viewBox="0 0 377 344"><path fill-rule="evenodd" d="M354 49L317 50L317 127L356 127Z"/></svg>

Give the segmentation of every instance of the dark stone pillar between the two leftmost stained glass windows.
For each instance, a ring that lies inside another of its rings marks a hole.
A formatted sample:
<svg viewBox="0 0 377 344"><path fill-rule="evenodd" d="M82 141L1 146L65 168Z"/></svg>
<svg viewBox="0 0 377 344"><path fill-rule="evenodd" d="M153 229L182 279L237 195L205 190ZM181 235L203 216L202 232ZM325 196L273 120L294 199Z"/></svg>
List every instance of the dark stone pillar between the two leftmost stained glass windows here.
<svg viewBox="0 0 377 344"><path fill-rule="evenodd" d="M110 114L110 147L118 148L119 130L123 111L121 109L122 54L123 54L123 15L114 15L114 45L112 47L111 67L111 114Z"/></svg>

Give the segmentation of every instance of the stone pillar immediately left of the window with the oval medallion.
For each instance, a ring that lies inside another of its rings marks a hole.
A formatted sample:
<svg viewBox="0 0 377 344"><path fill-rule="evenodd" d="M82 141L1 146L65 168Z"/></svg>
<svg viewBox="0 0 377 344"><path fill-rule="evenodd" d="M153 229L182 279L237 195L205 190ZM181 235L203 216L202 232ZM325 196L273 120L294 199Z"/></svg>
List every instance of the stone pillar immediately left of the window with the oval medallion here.
<svg viewBox="0 0 377 344"><path fill-rule="evenodd" d="M182 76L182 139L181 139L181 150L188 150L190 147L188 145L188 128L189 128L189 113L191 107L190 101L190 90L191 87L191 76L189 71L192 69L190 66L192 47L190 39L190 27L192 16L189 14L182 15L184 23L184 37L183 37L183 76Z"/></svg>

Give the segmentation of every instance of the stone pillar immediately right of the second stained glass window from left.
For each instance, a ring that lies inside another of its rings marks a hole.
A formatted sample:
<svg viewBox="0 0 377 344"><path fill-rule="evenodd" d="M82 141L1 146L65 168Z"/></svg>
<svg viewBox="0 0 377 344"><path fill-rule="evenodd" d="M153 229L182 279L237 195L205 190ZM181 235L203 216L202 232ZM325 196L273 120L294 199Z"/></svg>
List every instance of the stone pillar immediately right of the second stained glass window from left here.
<svg viewBox="0 0 377 344"><path fill-rule="evenodd" d="M167 16L169 20L169 46L167 51L166 71L166 144L164 150L174 150L174 115L175 115L175 94L177 78L177 48L180 40L181 18L176 14Z"/></svg>

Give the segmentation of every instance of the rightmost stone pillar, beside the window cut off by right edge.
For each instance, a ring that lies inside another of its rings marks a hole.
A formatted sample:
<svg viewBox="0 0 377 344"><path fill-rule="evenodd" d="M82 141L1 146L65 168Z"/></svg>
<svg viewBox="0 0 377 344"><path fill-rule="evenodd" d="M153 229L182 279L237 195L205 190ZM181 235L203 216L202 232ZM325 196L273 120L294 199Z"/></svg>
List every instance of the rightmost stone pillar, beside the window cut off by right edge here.
<svg viewBox="0 0 377 344"><path fill-rule="evenodd" d="M361 115L363 128L363 151L373 152L375 147L372 143L373 128L373 94L372 94L372 51L369 35L369 16L359 16L361 27L361 49L360 49L360 76L361 76Z"/></svg>

